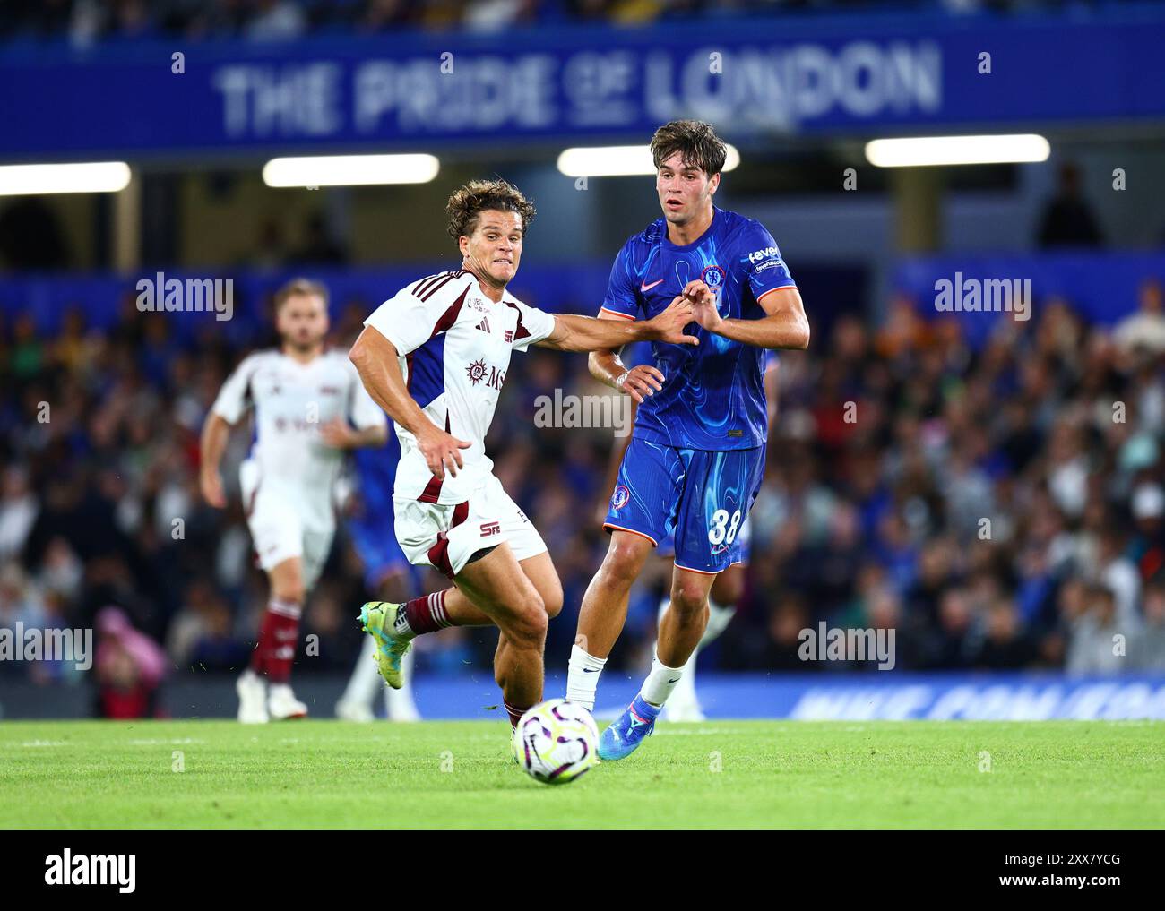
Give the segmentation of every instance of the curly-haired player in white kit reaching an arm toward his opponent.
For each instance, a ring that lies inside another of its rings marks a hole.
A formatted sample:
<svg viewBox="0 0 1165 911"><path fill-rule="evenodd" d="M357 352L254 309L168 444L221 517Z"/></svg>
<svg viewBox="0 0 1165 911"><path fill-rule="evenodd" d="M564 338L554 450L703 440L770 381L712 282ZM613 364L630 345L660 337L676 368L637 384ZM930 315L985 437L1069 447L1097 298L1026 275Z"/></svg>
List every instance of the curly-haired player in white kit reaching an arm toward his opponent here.
<svg viewBox="0 0 1165 911"><path fill-rule="evenodd" d="M542 701L546 624L562 609L563 589L542 536L485 452L510 354L530 345L594 351L640 339L691 345L684 327L693 297L707 289L693 282L642 323L551 316L506 288L534 205L504 181L473 181L446 211L461 268L412 282L381 304L351 358L401 440L393 496L401 549L453 585L407 603L368 602L361 621L393 687L401 686L401 659L415 636L496 624L494 676L516 725Z"/></svg>

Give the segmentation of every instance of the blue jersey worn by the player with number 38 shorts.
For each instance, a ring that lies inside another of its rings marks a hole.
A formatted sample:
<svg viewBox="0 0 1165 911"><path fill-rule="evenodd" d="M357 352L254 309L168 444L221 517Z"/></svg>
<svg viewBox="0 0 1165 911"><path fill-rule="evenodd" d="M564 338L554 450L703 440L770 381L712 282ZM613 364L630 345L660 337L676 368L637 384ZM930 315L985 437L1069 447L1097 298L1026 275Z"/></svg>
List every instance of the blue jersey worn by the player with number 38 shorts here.
<svg viewBox="0 0 1165 911"><path fill-rule="evenodd" d="M726 319L760 319L757 301L777 288L796 288L772 235L758 221L714 207L708 229L692 243L668 240L659 218L623 245L610 270L602 310L650 319L693 278L716 296ZM764 445L767 352L705 331L699 345L652 342L663 389L638 408L634 436L679 449L742 450Z"/></svg>

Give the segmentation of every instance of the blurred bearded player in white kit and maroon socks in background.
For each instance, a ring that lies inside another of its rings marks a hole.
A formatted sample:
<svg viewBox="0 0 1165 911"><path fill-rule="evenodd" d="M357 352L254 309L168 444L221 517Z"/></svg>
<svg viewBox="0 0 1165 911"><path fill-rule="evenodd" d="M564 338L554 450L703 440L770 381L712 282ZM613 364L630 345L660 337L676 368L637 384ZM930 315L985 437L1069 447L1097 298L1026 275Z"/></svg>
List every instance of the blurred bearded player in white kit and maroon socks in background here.
<svg viewBox="0 0 1165 911"><path fill-rule="evenodd" d="M232 425L255 409L256 438L239 468L239 487L259 564L270 581L250 666L236 683L239 720L303 718L290 686L299 616L336 531L337 481L345 451L388 438L384 415L352 363L327 351L327 291L297 278L275 296L278 351L260 351L223 384L202 436L200 483L226 506L219 462Z"/></svg>

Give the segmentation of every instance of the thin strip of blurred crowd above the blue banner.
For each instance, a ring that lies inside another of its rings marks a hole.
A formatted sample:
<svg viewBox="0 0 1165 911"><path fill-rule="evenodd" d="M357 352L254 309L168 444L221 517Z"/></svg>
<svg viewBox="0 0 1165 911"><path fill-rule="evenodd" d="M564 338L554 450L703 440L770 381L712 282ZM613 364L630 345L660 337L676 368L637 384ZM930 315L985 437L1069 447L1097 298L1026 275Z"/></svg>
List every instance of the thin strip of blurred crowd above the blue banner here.
<svg viewBox="0 0 1165 911"><path fill-rule="evenodd" d="M954 14L1057 9L1066 0L7 0L0 36L68 38L241 37L382 34L398 28L497 30L560 22L622 26L687 17L856 8L945 9Z"/></svg>

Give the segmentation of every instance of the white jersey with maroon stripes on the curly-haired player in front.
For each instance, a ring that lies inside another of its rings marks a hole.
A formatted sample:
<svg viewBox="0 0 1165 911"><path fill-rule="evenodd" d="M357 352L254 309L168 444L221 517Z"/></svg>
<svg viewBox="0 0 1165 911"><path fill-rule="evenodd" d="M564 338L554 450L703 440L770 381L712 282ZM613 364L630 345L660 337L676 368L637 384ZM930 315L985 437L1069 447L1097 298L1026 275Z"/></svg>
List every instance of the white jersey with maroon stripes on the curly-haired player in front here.
<svg viewBox="0 0 1165 911"><path fill-rule="evenodd" d="M393 342L409 394L438 428L473 445L461 450L464 468L439 481L397 425L401 461L394 495L398 500L450 506L465 502L492 472L486 433L510 352L525 351L555 331L555 318L503 292L494 303L473 273L430 275L402 288L365 320Z"/></svg>

